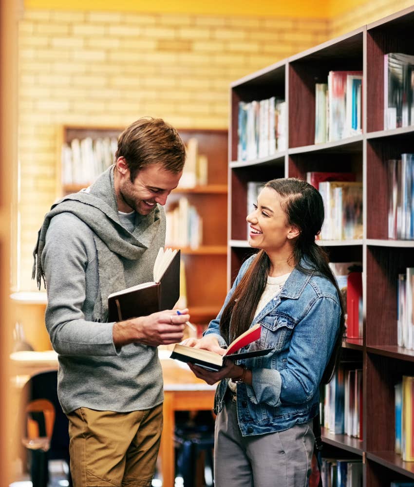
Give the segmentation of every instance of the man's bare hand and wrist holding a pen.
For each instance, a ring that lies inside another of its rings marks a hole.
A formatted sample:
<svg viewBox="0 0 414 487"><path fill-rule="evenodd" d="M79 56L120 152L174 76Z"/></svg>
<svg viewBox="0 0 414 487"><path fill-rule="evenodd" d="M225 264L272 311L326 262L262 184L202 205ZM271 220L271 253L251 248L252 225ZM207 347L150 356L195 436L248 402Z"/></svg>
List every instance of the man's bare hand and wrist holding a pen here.
<svg viewBox="0 0 414 487"><path fill-rule="evenodd" d="M169 345L183 339L185 323L190 319L188 309L160 311L149 316L118 321L113 325L112 336L116 348L129 343L142 343L151 347Z"/></svg>

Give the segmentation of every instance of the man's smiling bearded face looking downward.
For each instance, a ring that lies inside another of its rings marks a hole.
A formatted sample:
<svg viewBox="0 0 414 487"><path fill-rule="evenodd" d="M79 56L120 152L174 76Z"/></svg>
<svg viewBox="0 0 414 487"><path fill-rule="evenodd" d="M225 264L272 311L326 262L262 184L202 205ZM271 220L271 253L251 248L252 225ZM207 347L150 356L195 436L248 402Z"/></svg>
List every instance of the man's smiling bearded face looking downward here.
<svg viewBox="0 0 414 487"><path fill-rule="evenodd" d="M161 163L141 169L133 182L130 171L119 173L115 185L118 209L140 215L148 215L157 203L165 205L172 189L178 186L182 171L175 174L163 168Z"/></svg>

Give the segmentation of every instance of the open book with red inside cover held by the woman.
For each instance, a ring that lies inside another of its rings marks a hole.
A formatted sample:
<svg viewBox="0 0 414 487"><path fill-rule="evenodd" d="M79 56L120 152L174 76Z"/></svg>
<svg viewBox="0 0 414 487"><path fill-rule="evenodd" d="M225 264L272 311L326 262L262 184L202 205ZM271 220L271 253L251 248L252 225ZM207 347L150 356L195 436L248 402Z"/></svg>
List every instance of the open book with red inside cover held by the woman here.
<svg viewBox="0 0 414 487"><path fill-rule="evenodd" d="M188 347L187 345L180 345L177 343L174 345L170 358L175 358L182 362L190 362L207 370L217 372L224 367L226 358L230 360L240 360L242 358L263 356L272 352L274 350L273 348L266 348L251 352L236 353L246 345L258 340L260 338L261 329L262 326L259 323L249 328L245 333L242 333L240 337L237 337L230 343L224 355L216 354L210 350L201 350L199 348Z"/></svg>

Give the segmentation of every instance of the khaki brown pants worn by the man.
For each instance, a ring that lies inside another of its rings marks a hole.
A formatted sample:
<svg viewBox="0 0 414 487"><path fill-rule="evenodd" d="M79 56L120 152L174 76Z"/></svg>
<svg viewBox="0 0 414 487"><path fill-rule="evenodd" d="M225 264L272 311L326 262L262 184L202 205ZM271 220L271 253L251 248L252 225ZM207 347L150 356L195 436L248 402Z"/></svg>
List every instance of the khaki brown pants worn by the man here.
<svg viewBox="0 0 414 487"><path fill-rule="evenodd" d="M148 487L163 426L162 404L134 412L68 414L74 487Z"/></svg>

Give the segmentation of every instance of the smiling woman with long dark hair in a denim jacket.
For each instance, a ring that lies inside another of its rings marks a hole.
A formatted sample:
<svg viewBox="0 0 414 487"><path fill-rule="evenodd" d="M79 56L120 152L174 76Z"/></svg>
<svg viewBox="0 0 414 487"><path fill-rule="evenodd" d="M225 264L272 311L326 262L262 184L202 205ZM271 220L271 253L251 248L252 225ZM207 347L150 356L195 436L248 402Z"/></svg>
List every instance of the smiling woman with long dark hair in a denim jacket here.
<svg viewBox="0 0 414 487"><path fill-rule="evenodd" d="M264 357L219 372L188 364L215 397L217 487L305 487L319 410L320 382L332 375L344 330L339 289L323 249L319 192L295 178L269 181L247 216L250 257L216 319L186 345L223 355L226 344L262 325Z"/></svg>

